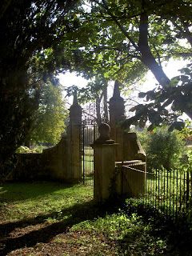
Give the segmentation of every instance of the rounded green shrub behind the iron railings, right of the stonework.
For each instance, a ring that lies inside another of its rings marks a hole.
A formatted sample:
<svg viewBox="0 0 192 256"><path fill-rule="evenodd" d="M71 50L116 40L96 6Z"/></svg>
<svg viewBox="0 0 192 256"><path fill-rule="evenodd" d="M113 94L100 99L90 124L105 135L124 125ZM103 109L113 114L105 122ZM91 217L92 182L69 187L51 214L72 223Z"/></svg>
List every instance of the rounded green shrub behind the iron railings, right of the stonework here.
<svg viewBox="0 0 192 256"><path fill-rule="evenodd" d="M146 150L147 169L166 170L177 168L179 159L185 151L185 143L178 131L168 131L167 127L158 127L152 132L147 130L138 134Z"/></svg>

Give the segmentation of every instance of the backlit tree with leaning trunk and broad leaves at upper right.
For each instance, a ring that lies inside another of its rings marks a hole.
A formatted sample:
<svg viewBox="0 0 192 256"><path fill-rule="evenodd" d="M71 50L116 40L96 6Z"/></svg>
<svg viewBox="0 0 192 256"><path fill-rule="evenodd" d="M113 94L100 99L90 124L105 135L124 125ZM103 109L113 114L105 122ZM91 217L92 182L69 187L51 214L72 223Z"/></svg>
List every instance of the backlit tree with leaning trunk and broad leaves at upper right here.
<svg viewBox="0 0 192 256"><path fill-rule="evenodd" d="M126 125L138 119L143 124L149 120L153 125L162 123L165 118L166 122L173 122L178 113L183 112L192 118L190 74L170 80L162 68L162 63L170 58L191 59L191 2L88 2L90 6L79 11L81 26L78 33L73 34L72 46L78 54L75 69L89 77L103 74L106 79L118 80L122 85L142 78L146 70L154 74L158 88L140 94L150 103L132 109L137 110L136 116ZM189 66L186 70L191 71ZM169 105L173 111L179 111L168 118L166 106Z"/></svg>

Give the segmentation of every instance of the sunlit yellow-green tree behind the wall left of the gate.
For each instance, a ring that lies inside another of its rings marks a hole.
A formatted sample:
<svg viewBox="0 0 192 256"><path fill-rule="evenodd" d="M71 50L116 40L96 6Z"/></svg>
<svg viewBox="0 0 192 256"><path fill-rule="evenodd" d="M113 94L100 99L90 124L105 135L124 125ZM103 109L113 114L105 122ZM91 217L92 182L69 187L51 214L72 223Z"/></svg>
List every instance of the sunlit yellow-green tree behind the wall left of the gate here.
<svg viewBox="0 0 192 256"><path fill-rule="evenodd" d="M40 90L38 109L34 111L30 131L25 138L26 146L39 142L56 144L65 132L67 114L61 87L46 82Z"/></svg>

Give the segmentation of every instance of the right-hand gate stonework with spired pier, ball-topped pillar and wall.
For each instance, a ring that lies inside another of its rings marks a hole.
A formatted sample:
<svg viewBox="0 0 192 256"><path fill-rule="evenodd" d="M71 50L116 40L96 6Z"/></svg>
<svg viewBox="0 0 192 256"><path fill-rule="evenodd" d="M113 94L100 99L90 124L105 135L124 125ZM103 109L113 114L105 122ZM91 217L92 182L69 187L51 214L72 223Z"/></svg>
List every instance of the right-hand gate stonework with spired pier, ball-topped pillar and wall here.
<svg viewBox="0 0 192 256"><path fill-rule="evenodd" d="M146 153L137 134L122 129L124 100L119 84L114 84L110 98L110 126L99 127L94 148L94 200L105 202L111 194L139 197L146 186Z"/></svg>

